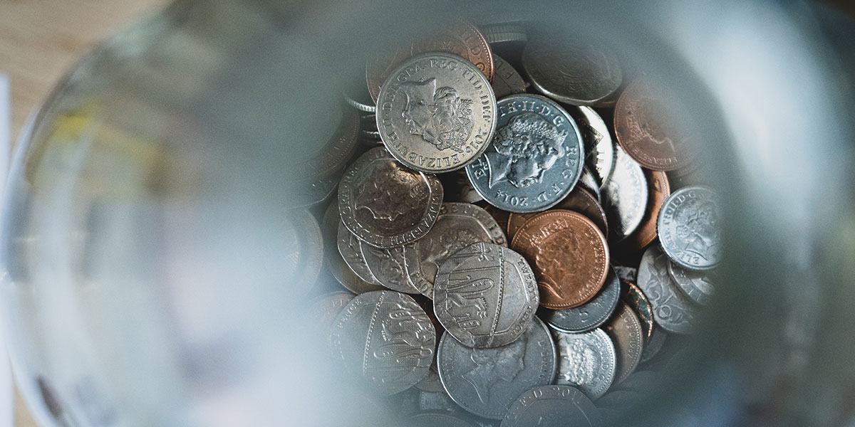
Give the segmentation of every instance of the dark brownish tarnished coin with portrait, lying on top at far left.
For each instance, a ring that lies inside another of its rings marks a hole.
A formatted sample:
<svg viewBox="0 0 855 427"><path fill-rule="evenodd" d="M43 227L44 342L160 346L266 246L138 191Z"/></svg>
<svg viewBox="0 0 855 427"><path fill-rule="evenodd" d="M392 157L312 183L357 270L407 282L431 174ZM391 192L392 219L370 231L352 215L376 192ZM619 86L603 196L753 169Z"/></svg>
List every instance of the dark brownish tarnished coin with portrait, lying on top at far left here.
<svg viewBox="0 0 855 427"><path fill-rule="evenodd" d="M382 147L361 155L339 184L342 221L378 248L393 248L428 234L441 204L439 179L404 168Z"/></svg>

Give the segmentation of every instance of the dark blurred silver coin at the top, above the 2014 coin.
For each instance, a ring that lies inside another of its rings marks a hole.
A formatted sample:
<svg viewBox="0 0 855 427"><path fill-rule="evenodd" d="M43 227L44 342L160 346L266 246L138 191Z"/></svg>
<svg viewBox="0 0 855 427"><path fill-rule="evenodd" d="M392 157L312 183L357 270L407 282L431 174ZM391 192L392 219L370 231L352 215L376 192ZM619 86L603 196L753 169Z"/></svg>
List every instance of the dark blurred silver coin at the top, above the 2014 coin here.
<svg viewBox="0 0 855 427"><path fill-rule="evenodd" d="M591 105L609 97L623 76L617 57L604 46L550 33L529 38L522 67L538 91L570 105Z"/></svg>

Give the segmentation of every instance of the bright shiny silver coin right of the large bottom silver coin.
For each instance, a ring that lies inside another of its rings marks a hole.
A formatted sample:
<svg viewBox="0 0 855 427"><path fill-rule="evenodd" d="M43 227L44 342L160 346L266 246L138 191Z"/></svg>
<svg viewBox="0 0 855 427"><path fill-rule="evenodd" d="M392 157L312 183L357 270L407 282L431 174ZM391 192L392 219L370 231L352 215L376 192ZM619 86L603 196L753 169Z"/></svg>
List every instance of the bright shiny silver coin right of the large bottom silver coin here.
<svg viewBox="0 0 855 427"><path fill-rule="evenodd" d="M601 329L581 334L552 330L558 348L558 375L555 382L572 385L590 399L597 399L615 379L615 344Z"/></svg>

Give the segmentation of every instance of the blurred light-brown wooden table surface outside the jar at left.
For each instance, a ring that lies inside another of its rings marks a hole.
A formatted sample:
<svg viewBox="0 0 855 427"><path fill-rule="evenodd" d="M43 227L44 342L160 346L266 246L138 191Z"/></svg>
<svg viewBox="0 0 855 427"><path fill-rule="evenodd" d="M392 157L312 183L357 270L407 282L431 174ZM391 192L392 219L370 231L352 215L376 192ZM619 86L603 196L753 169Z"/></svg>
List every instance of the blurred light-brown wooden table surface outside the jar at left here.
<svg viewBox="0 0 855 427"><path fill-rule="evenodd" d="M0 73L11 85L15 141L33 108L99 40L155 13L167 0L0 0ZM21 396L15 425L31 427Z"/></svg>

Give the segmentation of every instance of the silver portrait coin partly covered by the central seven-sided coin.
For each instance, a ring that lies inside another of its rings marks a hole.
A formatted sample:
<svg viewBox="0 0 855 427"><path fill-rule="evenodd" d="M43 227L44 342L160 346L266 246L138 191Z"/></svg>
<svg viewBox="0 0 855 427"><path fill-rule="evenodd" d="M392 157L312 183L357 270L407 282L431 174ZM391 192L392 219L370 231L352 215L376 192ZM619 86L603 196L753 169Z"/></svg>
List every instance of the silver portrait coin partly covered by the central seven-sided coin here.
<svg viewBox="0 0 855 427"><path fill-rule="evenodd" d="M404 247L410 281L422 295L433 298L433 281L443 261L472 243L507 246L504 231L490 213L469 203L443 203L439 217L425 237Z"/></svg>

